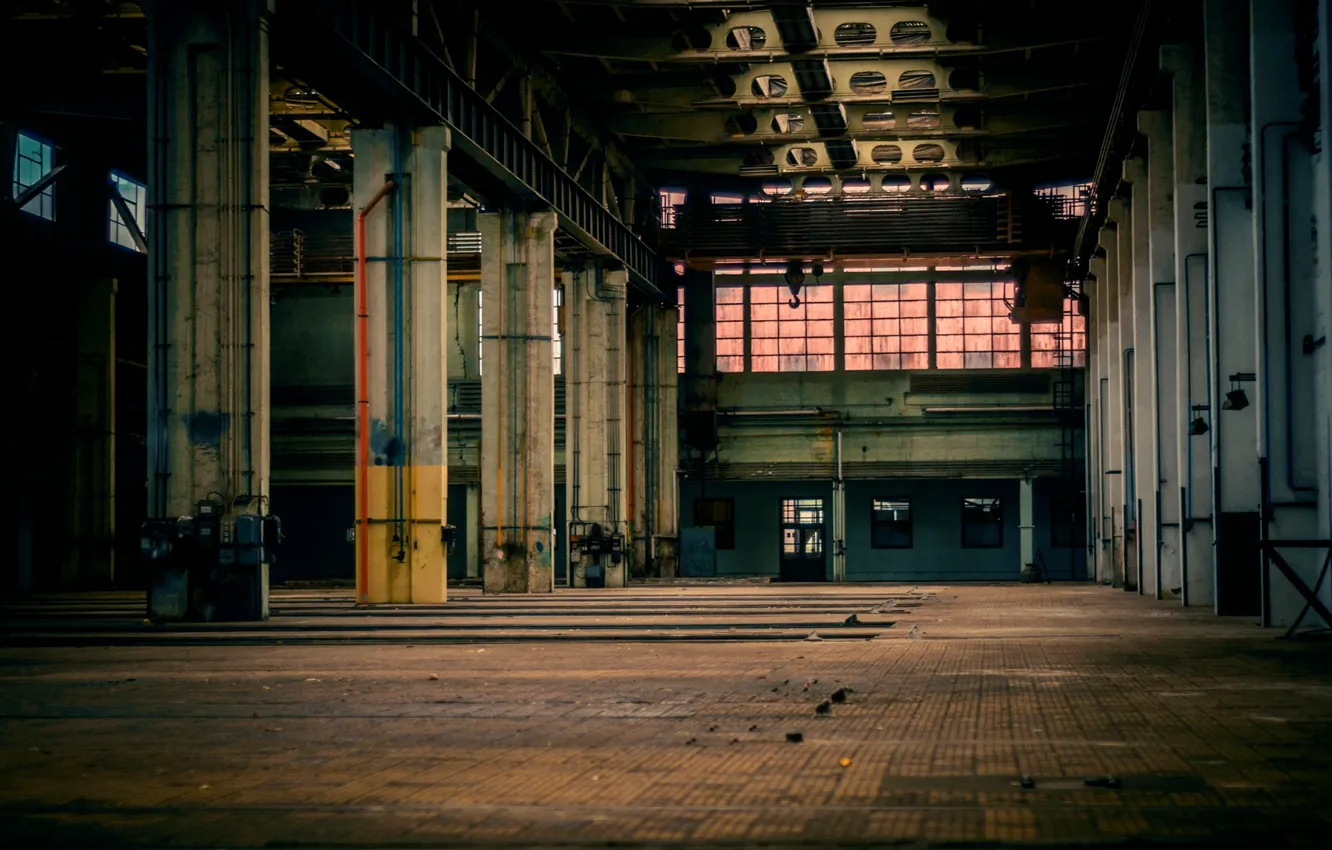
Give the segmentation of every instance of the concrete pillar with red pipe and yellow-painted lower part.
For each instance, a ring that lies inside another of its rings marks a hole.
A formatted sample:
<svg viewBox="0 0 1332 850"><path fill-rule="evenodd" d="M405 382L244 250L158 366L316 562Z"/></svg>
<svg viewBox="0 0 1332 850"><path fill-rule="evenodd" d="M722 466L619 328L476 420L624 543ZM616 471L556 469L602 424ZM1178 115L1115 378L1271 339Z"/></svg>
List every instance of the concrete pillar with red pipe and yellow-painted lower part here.
<svg viewBox="0 0 1332 850"><path fill-rule="evenodd" d="M366 305L356 317L366 340L357 345L357 601L442 602L449 131L352 131L352 149Z"/></svg>

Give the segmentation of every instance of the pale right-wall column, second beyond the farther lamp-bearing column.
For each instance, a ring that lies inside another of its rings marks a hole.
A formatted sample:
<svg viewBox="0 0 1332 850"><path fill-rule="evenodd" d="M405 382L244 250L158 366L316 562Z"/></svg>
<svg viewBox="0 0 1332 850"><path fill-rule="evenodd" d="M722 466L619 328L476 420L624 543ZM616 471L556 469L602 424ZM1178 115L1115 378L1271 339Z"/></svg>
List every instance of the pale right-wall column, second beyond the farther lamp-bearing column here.
<svg viewBox="0 0 1332 850"><path fill-rule="evenodd" d="M1134 376L1132 376L1132 484L1128 510L1134 517L1134 545L1126 550L1135 569L1128 584L1156 596L1156 410L1154 404L1156 352L1152 340L1151 203L1147 161L1124 161L1124 180L1134 187Z"/></svg>

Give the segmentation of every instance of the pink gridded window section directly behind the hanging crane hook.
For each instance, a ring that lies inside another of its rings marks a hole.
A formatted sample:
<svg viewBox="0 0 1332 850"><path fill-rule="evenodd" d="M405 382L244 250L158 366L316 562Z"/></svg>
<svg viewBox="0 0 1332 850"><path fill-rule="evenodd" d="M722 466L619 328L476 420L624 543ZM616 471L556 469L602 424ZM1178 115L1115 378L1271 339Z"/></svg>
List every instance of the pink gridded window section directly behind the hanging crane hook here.
<svg viewBox="0 0 1332 850"><path fill-rule="evenodd" d="M750 288L750 369L831 372L832 286L803 286L795 308L790 298L786 286Z"/></svg>

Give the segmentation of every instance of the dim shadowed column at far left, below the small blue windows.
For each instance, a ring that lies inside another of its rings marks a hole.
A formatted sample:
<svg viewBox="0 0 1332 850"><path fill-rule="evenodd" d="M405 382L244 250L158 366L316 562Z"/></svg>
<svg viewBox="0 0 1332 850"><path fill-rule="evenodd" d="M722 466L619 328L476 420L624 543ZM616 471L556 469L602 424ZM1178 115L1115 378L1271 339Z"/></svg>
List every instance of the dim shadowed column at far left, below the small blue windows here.
<svg viewBox="0 0 1332 850"><path fill-rule="evenodd" d="M89 281L76 305L73 490L61 585L107 588L116 577L116 281Z"/></svg>

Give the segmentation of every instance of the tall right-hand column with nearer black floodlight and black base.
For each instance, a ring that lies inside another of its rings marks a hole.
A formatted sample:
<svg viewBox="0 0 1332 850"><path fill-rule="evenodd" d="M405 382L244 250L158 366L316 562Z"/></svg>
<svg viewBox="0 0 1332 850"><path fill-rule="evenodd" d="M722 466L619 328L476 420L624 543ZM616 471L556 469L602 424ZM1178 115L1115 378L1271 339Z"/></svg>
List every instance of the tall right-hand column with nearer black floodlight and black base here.
<svg viewBox="0 0 1332 850"><path fill-rule="evenodd" d="M1257 613L1256 552L1260 482L1259 405L1251 382L1229 376L1257 372L1257 288L1253 269L1253 192L1249 164L1248 3L1205 0L1208 236L1211 262L1212 489L1217 493L1215 548L1219 613ZM1224 341L1224 345L1221 344ZM1220 409L1243 389L1249 405Z"/></svg>

